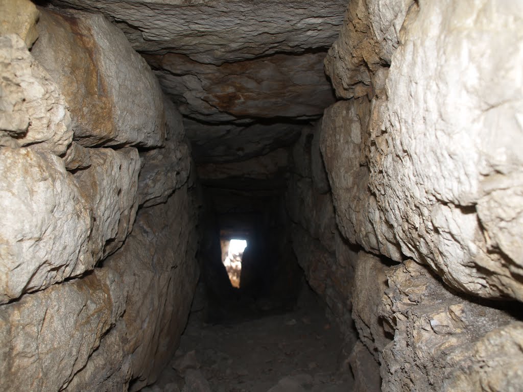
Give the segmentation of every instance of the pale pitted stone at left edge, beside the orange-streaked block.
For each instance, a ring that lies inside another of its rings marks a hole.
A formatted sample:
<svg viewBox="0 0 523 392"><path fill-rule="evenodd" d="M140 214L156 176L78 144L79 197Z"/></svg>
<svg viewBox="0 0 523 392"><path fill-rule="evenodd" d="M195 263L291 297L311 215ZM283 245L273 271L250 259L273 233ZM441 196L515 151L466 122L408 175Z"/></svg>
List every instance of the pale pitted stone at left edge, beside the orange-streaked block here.
<svg viewBox="0 0 523 392"><path fill-rule="evenodd" d="M0 37L0 72L0 145L63 154L73 139L67 103L15 34Z"/></svg>

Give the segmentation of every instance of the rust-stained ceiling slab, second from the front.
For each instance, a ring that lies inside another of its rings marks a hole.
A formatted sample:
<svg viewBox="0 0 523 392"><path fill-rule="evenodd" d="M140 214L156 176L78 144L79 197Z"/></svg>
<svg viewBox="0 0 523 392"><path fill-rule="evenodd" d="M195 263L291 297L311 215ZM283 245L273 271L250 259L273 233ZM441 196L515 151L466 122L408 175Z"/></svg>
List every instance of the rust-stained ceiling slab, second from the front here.
<svg viewBox="0 0 523 392"><path fill-rule="evenodd" d="M167 53L146 55L184 116L205 122L317 118L334 102L323 71L325 52L276 54L222 65Z"/></svg>

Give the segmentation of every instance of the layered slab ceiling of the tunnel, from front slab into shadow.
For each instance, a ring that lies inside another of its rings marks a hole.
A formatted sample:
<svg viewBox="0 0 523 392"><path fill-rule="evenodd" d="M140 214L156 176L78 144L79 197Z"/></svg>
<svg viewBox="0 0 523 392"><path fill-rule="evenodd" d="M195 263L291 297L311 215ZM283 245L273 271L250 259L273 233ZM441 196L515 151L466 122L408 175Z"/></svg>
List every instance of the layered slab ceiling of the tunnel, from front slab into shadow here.
<svg viewBox="0 0 523 392"><path fill-rule="evenodd" d="M179 107L197 162L294 141L335 97L323 69L346 0L52 0L120 27Z"/></svg>

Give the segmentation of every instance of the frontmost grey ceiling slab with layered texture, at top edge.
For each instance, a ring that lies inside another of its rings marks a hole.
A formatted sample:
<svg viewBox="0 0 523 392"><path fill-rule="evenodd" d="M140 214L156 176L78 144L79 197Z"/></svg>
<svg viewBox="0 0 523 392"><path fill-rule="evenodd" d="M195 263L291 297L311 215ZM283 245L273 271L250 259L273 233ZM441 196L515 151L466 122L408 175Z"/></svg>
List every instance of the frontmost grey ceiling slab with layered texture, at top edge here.
<svg viewBox="0 0 523 392"><path fill-rule="evenodd" d="M327 48L343 22L346 0L53 0L110 15L138 51L170 51L221 64L277 52Z"/></svg>

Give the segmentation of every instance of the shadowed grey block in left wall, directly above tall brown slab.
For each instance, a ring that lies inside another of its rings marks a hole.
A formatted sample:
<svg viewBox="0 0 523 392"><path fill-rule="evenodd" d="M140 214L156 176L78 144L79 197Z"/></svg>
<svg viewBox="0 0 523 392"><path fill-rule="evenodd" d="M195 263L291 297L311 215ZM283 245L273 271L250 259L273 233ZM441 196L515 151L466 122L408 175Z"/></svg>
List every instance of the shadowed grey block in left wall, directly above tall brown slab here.
<svg viewBox="0 0 523 392"><path fill-rule="evenodd" d="M173 103L164 97L167 123L165 146L140 153L139 203L145 207L164 203L183 186L191 168L190 147L184 136L183 119Z"/></svg>

